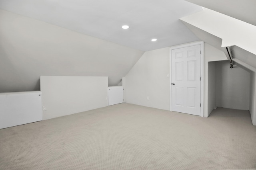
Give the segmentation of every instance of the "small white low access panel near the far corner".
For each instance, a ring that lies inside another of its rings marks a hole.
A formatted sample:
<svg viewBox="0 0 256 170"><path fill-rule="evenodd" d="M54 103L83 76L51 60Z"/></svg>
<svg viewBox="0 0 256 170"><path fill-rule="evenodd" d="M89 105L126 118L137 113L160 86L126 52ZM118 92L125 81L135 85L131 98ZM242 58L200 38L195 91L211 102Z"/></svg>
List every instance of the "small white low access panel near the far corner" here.
<svg viewBox="0 0 256 170"><path fill-rule="evenodd" d="M124 102L123 86L108 87L108 106Z"/></svg>

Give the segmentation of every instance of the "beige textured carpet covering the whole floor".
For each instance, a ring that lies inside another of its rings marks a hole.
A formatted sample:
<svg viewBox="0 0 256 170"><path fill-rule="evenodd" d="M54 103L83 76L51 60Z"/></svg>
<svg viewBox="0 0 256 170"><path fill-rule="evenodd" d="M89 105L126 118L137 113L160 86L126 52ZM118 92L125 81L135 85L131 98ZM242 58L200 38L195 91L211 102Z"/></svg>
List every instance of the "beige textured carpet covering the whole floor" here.
<svg viewBox="0 0 256 170"><path fill-rule="evenodd" d="M256 169L256 127L124 103L0 129L0 169Z"/></svg>

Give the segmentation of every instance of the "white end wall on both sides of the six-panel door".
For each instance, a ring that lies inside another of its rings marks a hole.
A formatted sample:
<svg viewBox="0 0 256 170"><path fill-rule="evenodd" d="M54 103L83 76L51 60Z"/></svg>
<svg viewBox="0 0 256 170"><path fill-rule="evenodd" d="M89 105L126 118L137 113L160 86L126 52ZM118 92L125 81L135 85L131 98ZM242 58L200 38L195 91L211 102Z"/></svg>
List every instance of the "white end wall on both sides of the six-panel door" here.
<svg viewBox="0 0 256 170"><path fill-rule="evenodd" d="M140 58L128 74L122 79L124 101L142 106L170 110L170 91L166 74L170 72L170 48L148 51ZM223 51L204 43L204 117L208 117L216 106L215 96L208 97L208 62L227 60ZM211 67L210 70L214 68ZM215 78L210 72L210 78ZM212 82L212 79L209 80ZM213 94L215 84L210 84L209 91ZM149 97L150 100L147 100ZM209 98L209 102L208 102ZM157 99L157 100L156 100ZM209 105L209 109L208 109Z"/></svg>

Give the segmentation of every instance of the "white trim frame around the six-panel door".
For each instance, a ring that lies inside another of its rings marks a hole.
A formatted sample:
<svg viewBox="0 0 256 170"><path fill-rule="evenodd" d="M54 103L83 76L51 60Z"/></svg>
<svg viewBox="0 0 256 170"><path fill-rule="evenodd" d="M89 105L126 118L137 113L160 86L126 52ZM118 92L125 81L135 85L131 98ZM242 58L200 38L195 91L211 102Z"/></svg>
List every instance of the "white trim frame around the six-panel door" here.
<svg viewBox="0 0 256 170"><path fill-rule="evenodd" d="M172 111L172 50L174 49L180 49L184 47L190 47L194 45L201 45L201 94L200 94L200 100L201 100L201 108L200 108L200 116L204 117L204 41L196 41L192 43L186 43L181 45L176 45L173 47L170 47L170 111Z"/></svg>

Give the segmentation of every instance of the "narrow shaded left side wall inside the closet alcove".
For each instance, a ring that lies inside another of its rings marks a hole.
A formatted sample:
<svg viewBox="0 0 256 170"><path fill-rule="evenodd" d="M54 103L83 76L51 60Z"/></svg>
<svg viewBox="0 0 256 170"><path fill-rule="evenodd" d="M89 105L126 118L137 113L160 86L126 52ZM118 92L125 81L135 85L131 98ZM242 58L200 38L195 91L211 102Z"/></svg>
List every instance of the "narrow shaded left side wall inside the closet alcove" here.
<svg viewBox="0 0 256 170"><path fill-rule="evenodd" d="M216 75L215 62L208 62L208 111L210 114L216 109Z"/></svg>

